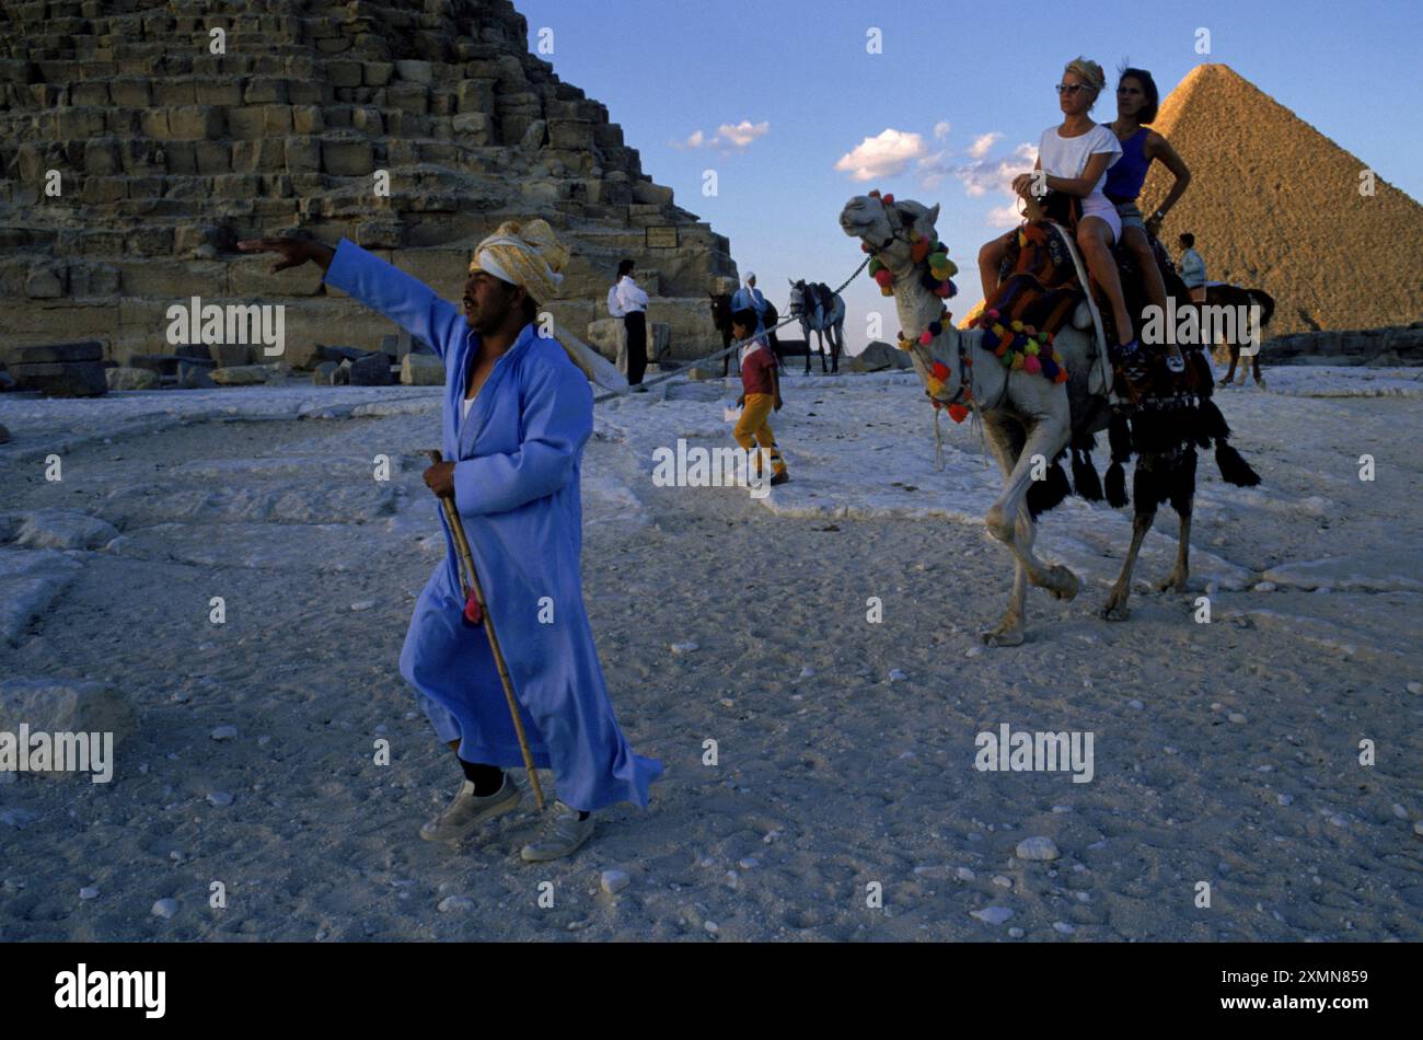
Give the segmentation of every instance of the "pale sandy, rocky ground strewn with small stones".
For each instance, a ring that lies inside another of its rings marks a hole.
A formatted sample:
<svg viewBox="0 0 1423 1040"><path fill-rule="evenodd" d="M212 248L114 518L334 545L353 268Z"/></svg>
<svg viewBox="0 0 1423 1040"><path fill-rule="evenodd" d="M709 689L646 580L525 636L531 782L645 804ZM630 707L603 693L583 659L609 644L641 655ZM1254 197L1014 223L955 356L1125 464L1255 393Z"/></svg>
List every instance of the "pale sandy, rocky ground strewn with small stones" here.
<svg viewBox="0 0 1423 1040"><path fill-rule="evenodd" d="M1032 592L1015 649L976 635L1012 576L980 522L996 474L968 424L935 469L912 377L788 378L794 481L764 501L650 478L656 447L729 442L731 384L601 405L586 599L666 775L538 866L531 797L460 848L416 834L458 784L396 667L441 551L437 391L0 397L0 681L107 681L138 716L111 784L0 777L0 940L1420 939L1420 376L1224 391L1265 484L1202 460L1192 590L1100 620L1130 518L1070 499L1039 546L1083 593ZM1091 782L976 770L1003 723L1090 731ZM1059 856L1019 858L1032 837Z"/></svg>

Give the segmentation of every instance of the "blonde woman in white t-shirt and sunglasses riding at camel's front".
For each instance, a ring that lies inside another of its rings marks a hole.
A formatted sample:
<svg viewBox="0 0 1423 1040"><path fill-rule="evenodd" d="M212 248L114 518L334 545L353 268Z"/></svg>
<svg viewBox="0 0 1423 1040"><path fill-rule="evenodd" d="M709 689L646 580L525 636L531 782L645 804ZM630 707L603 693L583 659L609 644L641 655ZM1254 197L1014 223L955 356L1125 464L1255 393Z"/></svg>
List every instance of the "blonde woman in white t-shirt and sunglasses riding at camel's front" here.
<svg viewBox="0 0 1423 1040"><path fill-rule="evenodd" d="M1117 208L1101 193L1107 169L1121 156L1121 144L1110 128L1087 118L1097 94L1106 85L1101 65L1087 58L1074 58L1063 70L1063 81L1057 84L1059 105L1063 110L1060 127L1043 131L1037 148L1037 162L1033 169L1042 169L1049 191L1076 195L1081 199L1081 219L1077 222L1077 248L1093 282L1101 286L1111 303L1117 326L1120 354L1137 349L1137 339L1121 296L1121 279L1111 246L1121 235L1121 218ZM1013 191L1030 198L1037 176L1019 174L1013 178ZM1003 262L1007 243L1017 230L993 239L979 250L979 275L983 279L983 299L992 299L998 290L998 269Z"/></svg>

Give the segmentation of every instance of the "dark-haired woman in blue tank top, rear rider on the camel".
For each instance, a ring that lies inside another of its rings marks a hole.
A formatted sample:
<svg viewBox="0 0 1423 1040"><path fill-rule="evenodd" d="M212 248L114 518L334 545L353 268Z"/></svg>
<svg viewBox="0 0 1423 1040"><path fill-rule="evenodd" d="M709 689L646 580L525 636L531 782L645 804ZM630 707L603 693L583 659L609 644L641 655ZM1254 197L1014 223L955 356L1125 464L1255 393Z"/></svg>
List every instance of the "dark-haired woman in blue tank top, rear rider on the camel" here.
<svg viewBox="0 0 1423 1040"><path fill-rule="evenodd" d="M1121 243L1137 258L1148 302L1161 307L1164 313L1165 283L1161 282L1147 232L1154 236L1161 230L1163 218L1191 184L1191 171L1164 137L1144 125L1155 121L1158 104L1160 94L1151 73L1144 68L1121 71L1117 80L1117 118L1107 124L1121 142L1121 158L1107 171L1107 182L1101 191L1117 206L1117 215L1121 218ZM1175 174L1175 184L1150 219L1143 221L1137 196L1154 159L1160 159L1161 165ZM1167 351L1167 366L1173 371L1183 371L1185 361L1180 347L1174 343L1163 346Z"/></svg>

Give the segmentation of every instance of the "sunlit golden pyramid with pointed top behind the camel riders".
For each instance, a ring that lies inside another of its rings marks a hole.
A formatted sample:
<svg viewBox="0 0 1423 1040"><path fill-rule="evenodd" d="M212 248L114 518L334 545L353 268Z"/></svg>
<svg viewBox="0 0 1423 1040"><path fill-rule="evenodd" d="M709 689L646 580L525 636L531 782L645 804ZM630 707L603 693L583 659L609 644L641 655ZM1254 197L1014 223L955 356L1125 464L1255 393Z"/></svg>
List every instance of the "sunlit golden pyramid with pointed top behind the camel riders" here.
<svg viewBox="0 0 1423 1040"><path fill-rule="evenodd" d="M1269 331L1373 329L1423 317L1423 206L1229 67L1197 65L1161 102L1154 129L1191 168L1163 233L1192 232L1207 276L1276 300ZM1153 164L1143 211L1171 175Z"/></svg>

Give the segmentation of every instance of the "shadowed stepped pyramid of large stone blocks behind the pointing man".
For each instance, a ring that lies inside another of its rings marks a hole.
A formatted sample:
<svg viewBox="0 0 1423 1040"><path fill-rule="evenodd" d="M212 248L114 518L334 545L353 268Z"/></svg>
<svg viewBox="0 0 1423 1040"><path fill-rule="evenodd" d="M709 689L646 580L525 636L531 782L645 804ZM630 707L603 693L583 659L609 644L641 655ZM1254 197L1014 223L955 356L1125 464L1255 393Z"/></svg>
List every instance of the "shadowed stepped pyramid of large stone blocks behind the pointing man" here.
<svg viewBox="0 0 1423 1040"><path fill-rule="evenodd" d="M238 239L346 236L458 300L472 246L535 216L573 250L559 323L605 316L630 256L675 351L720 346L706 293L736 275L727 239L527 40L508 0L0 6L0 347L171 353L164 312L199 296L289 304L300 367L317 339L376 347L393 327L326 296L314 267L268 275Z"/></svg>

